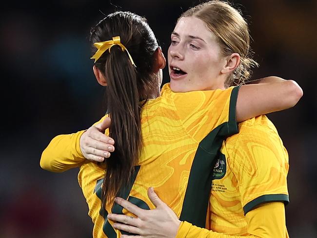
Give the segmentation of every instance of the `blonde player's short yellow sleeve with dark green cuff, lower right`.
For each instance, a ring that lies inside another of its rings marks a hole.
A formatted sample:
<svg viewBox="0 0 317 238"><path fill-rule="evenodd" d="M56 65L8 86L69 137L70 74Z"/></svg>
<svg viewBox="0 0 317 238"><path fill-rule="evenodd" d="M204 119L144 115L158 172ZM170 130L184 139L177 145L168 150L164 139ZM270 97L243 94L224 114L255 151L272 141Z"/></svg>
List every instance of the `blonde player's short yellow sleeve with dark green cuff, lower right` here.
<svg viewBox="0 0 317 238"><path fill-rule="evenodd" d="M272 122L260 116L240 123L239 134L228 138L225 146L244 214L261 203L289 202L288 154Z"/></svg>

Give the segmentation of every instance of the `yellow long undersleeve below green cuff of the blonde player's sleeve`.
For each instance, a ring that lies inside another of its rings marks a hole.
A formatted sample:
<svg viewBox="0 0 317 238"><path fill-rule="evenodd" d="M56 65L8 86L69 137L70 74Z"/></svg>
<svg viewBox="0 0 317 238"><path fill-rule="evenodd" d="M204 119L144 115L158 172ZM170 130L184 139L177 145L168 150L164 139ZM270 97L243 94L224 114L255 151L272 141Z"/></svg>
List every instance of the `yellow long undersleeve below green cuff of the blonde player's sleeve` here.
<svg viewBox="0 0 317 238"><path fill-rule="evenodd" d="M288 238L285 226L285 208L281 202L258 206L246 215L246 220L248 233L243 236L217 233L182 221L176 238Z"/></svg>

